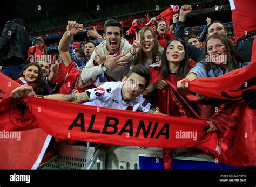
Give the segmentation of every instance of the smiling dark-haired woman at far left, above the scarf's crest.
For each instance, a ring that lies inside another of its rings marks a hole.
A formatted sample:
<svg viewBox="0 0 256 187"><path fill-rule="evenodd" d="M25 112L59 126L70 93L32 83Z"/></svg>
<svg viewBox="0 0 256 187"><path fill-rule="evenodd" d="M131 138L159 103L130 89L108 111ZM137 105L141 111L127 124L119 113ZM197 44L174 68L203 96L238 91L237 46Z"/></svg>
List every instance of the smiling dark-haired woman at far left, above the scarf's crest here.
<svg viewBox="0 0 256 187"><path fill-rule="evenodd" d="M15 81L19 84L28 84L33 87L37 95L44 93L44 79L42 69L37 63L28 63L22 69L20 77Z"/></svg>

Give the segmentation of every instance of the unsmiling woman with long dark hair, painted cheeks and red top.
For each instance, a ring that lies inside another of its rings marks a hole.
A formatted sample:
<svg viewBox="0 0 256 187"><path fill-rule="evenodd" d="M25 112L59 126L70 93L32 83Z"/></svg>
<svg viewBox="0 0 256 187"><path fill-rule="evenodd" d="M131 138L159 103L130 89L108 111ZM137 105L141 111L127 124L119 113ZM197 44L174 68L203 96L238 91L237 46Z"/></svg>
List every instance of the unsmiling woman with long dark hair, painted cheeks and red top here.
<svg viewBox="0 0 256 187"><path fill-rule="evenodd" d="M164 48L161 59L160 68L150 68L152 78L147 87L146 96L150 96L150 103L158 106L160 112L181 117L179 106L171 102L172 90L166 86L166 81L176 85L191 69L184 42L179 38L170 40ZM207 123L210 125L208 133L217 129L212 121L207 121Z"/></svg>

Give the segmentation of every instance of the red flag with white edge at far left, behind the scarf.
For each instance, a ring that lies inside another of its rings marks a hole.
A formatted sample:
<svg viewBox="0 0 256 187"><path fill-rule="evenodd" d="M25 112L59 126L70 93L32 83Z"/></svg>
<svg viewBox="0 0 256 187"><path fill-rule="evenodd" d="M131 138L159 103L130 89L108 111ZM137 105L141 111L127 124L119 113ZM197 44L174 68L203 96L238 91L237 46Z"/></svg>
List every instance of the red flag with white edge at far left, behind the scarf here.
<svg viewBox="0 0 256 187"><path fill-rule="evenodd" d="M1 72L0 80L0 99L10 97L11 91L20 86ZM37 169L50 140L51 136L39 128L20 132L1 129L0 169Z"/></svg>

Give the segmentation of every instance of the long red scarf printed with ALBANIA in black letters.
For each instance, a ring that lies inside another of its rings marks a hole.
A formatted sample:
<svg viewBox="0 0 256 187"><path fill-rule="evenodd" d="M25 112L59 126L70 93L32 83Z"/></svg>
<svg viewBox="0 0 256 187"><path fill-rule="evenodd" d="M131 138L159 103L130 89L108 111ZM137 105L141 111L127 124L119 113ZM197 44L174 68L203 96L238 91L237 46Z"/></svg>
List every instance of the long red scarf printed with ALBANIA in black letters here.
<svg viewBox="0 0 256 187"><path fill-rule="evenodd" d="M51 107L49 107L49 104ZM207 134L203 120L28 97L1 100L0 130L42 128L62 139L129 146L186 148L217 147L215 133Z"/></svg>

